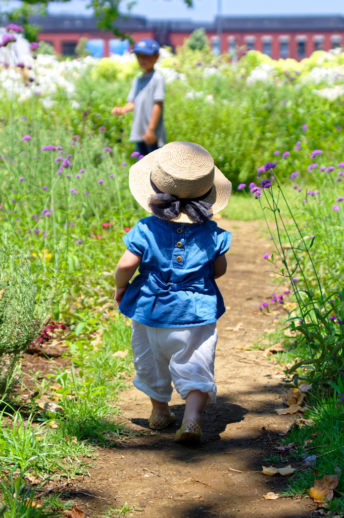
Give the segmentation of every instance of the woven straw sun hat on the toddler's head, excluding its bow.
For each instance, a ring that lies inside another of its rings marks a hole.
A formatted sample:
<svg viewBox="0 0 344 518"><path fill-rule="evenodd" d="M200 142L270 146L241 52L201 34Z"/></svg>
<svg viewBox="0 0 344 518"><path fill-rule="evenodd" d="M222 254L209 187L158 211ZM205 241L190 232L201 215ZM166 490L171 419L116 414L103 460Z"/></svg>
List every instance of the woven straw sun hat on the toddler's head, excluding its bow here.
<svg viewBox="0 0 344 518"><path fill-rule="evenodd" d="M156 192L151 179L162 193L178 198L202 197L211 191L203 201L211 204L213 214L227 206L232 191L231 182L214 165L212 155L193 142L170 142L130 167L130 191L141 207L152 213L149 200ZM171 221L195 223L184 208Z"/></svg>

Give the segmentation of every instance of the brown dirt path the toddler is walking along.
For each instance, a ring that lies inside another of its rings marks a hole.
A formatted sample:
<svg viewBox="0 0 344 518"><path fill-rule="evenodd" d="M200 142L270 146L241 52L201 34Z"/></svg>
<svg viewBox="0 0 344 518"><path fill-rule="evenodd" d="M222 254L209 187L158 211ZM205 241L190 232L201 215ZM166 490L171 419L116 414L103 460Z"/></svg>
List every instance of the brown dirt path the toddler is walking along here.
<svg viewBox="0 0 344 518"><path fill-rule="evenodd" d="M274 327L273 317L258 310L274 291L268 274L263 275L262 256L270 244L259 237L255 223L221 220L219 224L233 232L228 273L218 283L229 309L218 322L218 397L204 412L202 446L192 449L173 442L184 411L178 394L171 401L176 422L152 433L147 423L148 398L134 388L124 392L124 415L146 435L99 452L91 479L78 484L79 491L96 497L85 495L80 501L78 495L87 516L101 516L106 503L118 508L125 502L149 518L310 516L308 499L263 498L287 485L286 478L267 477L260 471L262 464L269 465L263 459L276 453L278 432L288 429L292 417L274 411L281 406L282 392L277 368L256 359L255 352L240 349Z"/></svg>

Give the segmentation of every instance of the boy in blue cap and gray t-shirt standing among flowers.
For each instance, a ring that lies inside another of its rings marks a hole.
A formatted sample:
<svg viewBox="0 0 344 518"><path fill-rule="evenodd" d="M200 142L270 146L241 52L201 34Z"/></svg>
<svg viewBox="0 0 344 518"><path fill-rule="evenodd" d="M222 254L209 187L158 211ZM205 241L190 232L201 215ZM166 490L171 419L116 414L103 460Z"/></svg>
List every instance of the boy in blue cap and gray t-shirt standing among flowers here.
<svg viewBox="0 0 344 518"><path fill-rule="evenodd" d="M163 125L165 84L160 72L154 70L159 48L158 42L149 38L141 39L134 45L133 52L144 74L132 81L127 104L116 106L111 111L113 115L123 115L134 110L129 140L135 142L140 155L161 148L167 141Z"/></svg>

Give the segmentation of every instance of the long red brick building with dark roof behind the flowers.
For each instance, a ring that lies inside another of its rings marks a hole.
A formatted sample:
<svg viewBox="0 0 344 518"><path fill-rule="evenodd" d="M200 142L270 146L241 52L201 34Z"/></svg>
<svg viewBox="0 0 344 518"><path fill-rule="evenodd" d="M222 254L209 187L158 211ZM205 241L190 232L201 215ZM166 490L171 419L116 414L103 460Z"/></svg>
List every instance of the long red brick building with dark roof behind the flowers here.
<svg viewBox="0 0 344 518"><path fill-rule="evenodd" d="M111 32L99 30L94 18L35 17L32 22L42 26L39 40L49 41L58 53L71 55L81 37L103 40L103 55L109 55ZM196 28L204 27L214 54L233 53L235 48L246 46L273 58L293 57L301 60L315 50L330 50L344 42L344 17L341 16L262 16L222 17L221 36L219 20L211 23L189 20L151 21L143 17L119 18L119 31L130 34L134 41L154 38L161 45L175 48L182 45Z"/></svg>

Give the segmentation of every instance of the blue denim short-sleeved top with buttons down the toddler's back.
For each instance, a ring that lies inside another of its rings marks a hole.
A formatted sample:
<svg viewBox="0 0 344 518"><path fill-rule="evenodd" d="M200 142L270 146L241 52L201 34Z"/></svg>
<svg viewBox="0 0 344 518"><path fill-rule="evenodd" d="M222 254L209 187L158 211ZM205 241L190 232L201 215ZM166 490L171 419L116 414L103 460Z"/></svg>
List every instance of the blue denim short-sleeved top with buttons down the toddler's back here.
<svg viewBox="0 0 344 518"><path fill-rule="evenodd" d="M215 221L184 225L150 216L123 240L142 261L121 313L150 327L211 324L225 313L213 261L229 249L231 233Z"/></svg>

